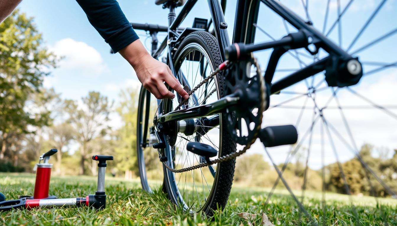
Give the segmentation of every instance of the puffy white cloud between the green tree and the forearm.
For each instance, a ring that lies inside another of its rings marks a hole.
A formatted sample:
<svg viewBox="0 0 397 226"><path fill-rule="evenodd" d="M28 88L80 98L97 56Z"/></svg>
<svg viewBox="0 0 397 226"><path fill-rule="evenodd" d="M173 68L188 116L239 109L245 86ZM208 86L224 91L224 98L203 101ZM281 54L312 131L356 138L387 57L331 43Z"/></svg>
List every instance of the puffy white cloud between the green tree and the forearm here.
<svg viewBox="0 0 397 226"><path fill-rule="evenodd" d="M85 42L64 38L51 46L49 51L54 52L58 57L64 57L59 63L59 68L62 69L83 70L91 75L108 70L100 53Z"/></svg>

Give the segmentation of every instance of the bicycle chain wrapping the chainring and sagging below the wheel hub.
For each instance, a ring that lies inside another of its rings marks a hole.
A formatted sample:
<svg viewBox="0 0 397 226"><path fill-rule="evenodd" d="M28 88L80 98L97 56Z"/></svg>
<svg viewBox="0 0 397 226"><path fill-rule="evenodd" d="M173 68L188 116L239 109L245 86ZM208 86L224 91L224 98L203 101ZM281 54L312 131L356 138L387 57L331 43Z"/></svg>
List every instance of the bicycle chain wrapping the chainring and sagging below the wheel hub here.
<svg viewBox="0 0 397 226"><path fill-rule="evenodd" d="M261 97L261 102L260 102L260 103L262 103L262 104L260 105L260 109L259 109L259 111L258 111L258 114L260 114L259 122L262 122L262 119L263 119L263 114L262 114L262 112L264 112L264 108L265 108L265 106L266 106L266 103L265 103L265 86L264 86L264 82L263 82L263 78L262 78L262 72L261 72L261 70L260 70L260 66L259 66L259 64L258 64L258 61L257 61L256 58L254 58L254 57L252 57L251 59L252 59L252 63L256 66L256 74L258 75L258 78L259 78L259 80L260 80L260 97ZM218 74L218 73L219 73L219 71L218 71L216 74ZM214 74L214 75L215 75L215 74ZM212 77L213 77L214 75L212 75ZM207 78L208 78L208 77L207 77ZM203 81L204 81L204 80L203 80ZM208 80L207 80L207 81L208 81ZM204 84L204 83L203 83L203 84ZM202 85L202 84L200 83L198 87L200 87L201 85ZM196 87L197 87L197 86L196 86ZM198 87L197 87L197 88L196 88L196 87L195 87L195 89L193 89L193 90L197 90ZM193 91L193 90L192 90L192 91ZM193 91L193 92L194 92L194 91ZM192 92L192 93L193 93L193 92ZM189 93L190 93L190 92L189 92ZM189 94L189 95L190 95L190 94ZM182 103L182 102L181 102L181 103ZM180 106L182 106L182 104L180 104ZM166 162L162 162L162 163L163 163L163 165L164 165L168 170L170 170L170 171L173 172L173 173L183 173L183 172L187 172L187 171L199 169L199 168L202 168L202 167L206 167L206 166L209 166L209 165L213 165L213 164L216 164L216 163L221 163L221 162L224 162L224 161L229 161L229 160L235 159L235 158L241 156L242 154L244 154L245 152L247 152L247 150L248 150L249 148L251 148L251 145L252 145L252 144L256 141L256 139L258 138L258 133L259 133L259 130L260 130L260 126L261 126L261 123L258 123L258 125L256 125L256 129L255 129L255 133L254 133L254 138L253 138L247 145L245 145L245 147L243 148L243 150L240 150L240 151L238 151L238 152L233 152L233 153L231 153L231 154L227 154L227 155L221 156L221 157L216 158L216 159L214 159L214 160L211 160L211 161L209 161L209 162L200 163L200 164L193 165L193 166L186 167L186 168L182 168L182 169L173 169L173 167L167 165Z"/></svg>

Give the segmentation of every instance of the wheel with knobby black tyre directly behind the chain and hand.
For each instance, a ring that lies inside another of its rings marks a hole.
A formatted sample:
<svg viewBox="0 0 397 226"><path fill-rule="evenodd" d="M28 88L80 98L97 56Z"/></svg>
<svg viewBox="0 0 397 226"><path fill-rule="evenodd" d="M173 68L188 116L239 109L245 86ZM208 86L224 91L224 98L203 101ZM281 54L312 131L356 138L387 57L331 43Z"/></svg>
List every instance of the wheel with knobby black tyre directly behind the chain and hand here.
<svg viewBox="0 0 397 226"><path fill-rule="evenodd" d="M190 89L193 89L222 63L215 37L204 31L189 34L174 56L175 71L181 76L182 85L188 85ZM223 76L215 76L198 88L191 95L189 103L182 108L212 103L223 96L223 90ZM178 104L177 98L165 100L163 113L174 110ZM217 125L203 126L201 124L200 120L214 120L216 117L218 117ZM235 142L224 129L225 120L222 114L196 118L194 121L196 129L192 135L179 132L175 137L175 145L170 146L169 143L167 145L167 156L172 156L172 158L169 157L167 163L174 169L205 162L201 156L186 150L187 142L208 144L218 151L218 156L236 150ZM165 181L168 195L172 201L190 213L202 212L207 216L212 216L213 210L224 209L227 203L233 182L234 167L235 160L230 160L184 173L167 171Z"/></svg>

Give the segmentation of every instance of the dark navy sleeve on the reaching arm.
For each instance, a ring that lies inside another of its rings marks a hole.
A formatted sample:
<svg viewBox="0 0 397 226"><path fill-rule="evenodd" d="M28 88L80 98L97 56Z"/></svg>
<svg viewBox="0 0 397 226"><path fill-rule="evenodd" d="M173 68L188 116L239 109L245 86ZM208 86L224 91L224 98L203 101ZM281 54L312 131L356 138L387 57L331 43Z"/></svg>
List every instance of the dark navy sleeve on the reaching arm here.
<svg viewBox="0 0 397 226"><path fill-rule="evenodd" d="M76 0L114 53L139 37L116 0Z"/></svg>

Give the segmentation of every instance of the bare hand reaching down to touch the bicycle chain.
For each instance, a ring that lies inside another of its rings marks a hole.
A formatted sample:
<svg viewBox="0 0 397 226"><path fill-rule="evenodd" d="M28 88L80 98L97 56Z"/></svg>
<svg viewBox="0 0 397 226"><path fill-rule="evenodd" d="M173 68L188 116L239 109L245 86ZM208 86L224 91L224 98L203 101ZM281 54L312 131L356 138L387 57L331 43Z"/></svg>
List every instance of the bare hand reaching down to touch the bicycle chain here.
<svg viewBox="0 0 397 226"><path fill-rule="evenodd" d="M143 47L141 41L135 40L119 53L133 66L139 81L157 99L173 99L175 95L164 84L166 82L184 99L189 98L180 82L172 75L170 68L154 59Z"/></svg>

